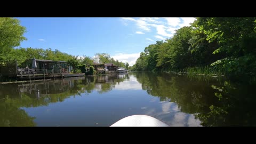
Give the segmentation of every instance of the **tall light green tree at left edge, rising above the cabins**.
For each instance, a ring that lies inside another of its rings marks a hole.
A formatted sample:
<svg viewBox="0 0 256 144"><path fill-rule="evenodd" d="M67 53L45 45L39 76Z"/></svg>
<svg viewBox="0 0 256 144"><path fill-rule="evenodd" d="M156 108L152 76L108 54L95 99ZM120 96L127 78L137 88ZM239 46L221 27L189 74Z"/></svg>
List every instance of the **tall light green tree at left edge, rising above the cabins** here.
<svg viewBox="0 0 256 144"><path fill-rule="evenodd" d="M20 42L26 40L23 34L26 28L20 25L20 21L14 18L0 18L0 61L6 61L6 55Z"/></svg>

